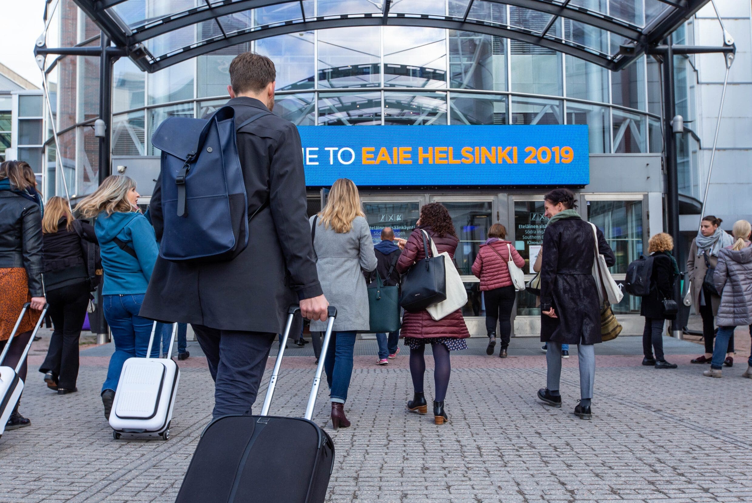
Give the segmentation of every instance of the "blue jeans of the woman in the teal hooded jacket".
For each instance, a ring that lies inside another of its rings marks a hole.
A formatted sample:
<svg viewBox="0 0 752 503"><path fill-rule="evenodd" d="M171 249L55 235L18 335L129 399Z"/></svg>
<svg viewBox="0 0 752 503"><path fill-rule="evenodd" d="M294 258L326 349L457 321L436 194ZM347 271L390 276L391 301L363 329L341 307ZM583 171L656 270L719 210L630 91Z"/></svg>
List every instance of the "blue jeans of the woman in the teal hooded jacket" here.
<svg viewBox="0 0 752 503"><path fill-rule="evenodd" d="M115 352L110 358L110 367L107 379L102 384L102 391L117 390L117 381L120 380L120 372L123 371L126 359L134 356L146 357L153 322L138 316L143 302L144 294L102 296L105 320L110 326L112 340L115 343ZM159 357L159 344L152 344L151 356Z"/></svg>

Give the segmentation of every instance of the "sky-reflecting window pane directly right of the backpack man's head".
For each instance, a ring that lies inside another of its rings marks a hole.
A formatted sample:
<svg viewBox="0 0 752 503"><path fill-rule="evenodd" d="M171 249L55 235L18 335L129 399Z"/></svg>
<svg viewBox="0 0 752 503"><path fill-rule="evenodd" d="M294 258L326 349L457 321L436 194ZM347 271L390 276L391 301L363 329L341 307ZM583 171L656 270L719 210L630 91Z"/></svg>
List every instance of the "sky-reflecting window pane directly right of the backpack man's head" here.
<svg viewBox="0 0 752 503"><path fill-rule="evenodd" d="M256 52L268 56L274 62L277 69L277 91L313 89L314 32L262 38L256 41ZM229 81L229 76L226 80Z"/></svg>

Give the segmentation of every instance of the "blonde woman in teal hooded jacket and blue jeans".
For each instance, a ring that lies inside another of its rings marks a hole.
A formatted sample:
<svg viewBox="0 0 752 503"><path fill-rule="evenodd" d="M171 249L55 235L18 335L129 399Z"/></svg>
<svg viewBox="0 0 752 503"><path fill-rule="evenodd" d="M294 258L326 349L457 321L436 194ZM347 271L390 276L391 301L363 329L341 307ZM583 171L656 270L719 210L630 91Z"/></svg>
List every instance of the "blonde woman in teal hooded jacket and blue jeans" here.
<svg viewBox="0 0 752 503"><path fill-rule="evenodd" d="M78 204L85 217L96 217L94 229L105 269L102 305L115 343L102 385L102 404L108 419L123 363L133 356L147 356L151 335L152 322L138 316L138 310L158 252L154 229L136 206L138 196L133 180L112 175ZM159 340L152 345L150 356L159 356Z"/></svg>

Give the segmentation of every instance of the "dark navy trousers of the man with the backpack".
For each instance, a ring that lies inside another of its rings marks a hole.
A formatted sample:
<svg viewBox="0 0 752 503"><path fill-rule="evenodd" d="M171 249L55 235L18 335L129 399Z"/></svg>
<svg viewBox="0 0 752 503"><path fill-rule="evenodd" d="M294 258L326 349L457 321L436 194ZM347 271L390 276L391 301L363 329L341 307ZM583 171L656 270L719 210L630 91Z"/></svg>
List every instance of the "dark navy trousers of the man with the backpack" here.
<svg viewBox="0 0 752 503"><path fill-rule="evenodd" d="M277 334L192 326L214 379L212 416L215 419L227 414L250 416Z"/></svg>

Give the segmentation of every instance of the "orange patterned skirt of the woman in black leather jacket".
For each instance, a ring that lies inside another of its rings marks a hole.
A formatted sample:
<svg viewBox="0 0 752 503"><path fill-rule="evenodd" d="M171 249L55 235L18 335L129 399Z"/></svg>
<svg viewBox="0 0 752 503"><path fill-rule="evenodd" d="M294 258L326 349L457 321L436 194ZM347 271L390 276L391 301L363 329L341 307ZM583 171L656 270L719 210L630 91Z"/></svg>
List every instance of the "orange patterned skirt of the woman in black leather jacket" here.
<svg viewBox="0 0 752 503"><path fill-rule="evenodd" d="M0 268L0 292L0 341L7 341L11 337L23 305L32 300L32 296L29 295L29 282L26 280L26 269ZM31 308L26 310L16 335L33 330L40 314Z"/></svg>

